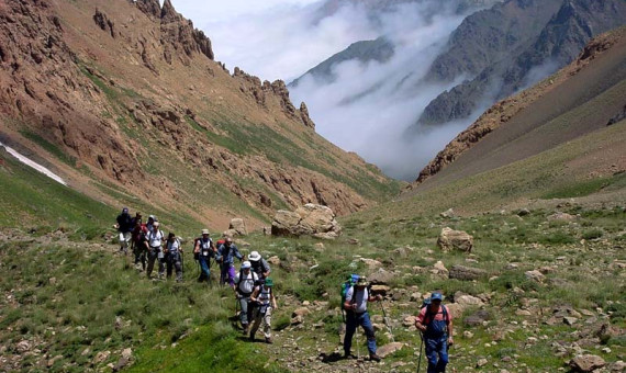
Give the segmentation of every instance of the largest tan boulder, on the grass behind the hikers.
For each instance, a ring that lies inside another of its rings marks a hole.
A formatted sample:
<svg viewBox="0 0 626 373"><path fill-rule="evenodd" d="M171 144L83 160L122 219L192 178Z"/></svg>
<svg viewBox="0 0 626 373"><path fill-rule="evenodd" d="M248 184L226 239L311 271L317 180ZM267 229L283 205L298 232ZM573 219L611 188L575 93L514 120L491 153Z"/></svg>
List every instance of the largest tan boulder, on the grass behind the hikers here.
<svg viewBox="0 0 626 373"><path fill-rule="evenodd" d="M335 213L327 207L308 203L294 212L279 210L271 223L272 236L313 236L333 239L340 235L342 227Z"/></svg>

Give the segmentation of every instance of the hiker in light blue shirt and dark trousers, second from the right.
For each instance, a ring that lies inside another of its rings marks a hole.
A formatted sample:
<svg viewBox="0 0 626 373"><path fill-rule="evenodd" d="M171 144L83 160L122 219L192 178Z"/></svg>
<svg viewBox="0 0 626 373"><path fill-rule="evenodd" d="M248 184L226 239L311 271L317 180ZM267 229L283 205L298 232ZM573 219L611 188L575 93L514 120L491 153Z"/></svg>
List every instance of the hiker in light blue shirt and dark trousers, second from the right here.
<svg viewBox="0 0 626 373"><path fill-rule="evenodd" d="M360 325L367 336L367 349L369 359L380 361L380 357L376 354L376 337L373 335L373 326L369 319L367 312L367 303L382 301L382 295L372 296L368 290L367 279L359 276L357 283L348 289L346 293L346 302L344 309L346 310L346 336L344 337L344 355L350 358L350 348L353 346L353 335Z"/></svg>

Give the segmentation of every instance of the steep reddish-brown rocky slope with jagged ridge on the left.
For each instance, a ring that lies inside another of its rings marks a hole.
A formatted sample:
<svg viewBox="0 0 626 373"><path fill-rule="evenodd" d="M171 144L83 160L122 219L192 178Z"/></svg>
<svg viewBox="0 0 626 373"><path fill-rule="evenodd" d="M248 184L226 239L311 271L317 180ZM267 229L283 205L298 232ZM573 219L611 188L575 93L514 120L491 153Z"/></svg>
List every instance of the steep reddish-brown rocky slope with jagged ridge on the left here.
<svg viewBox="0 0 626 373"><path fill-rule="evenodd" d="M308 202L346 214L395 188L316 135L282 81L230 75L169 0L2 2L0 82L3 143L107 203L222 226Z"/></svg>

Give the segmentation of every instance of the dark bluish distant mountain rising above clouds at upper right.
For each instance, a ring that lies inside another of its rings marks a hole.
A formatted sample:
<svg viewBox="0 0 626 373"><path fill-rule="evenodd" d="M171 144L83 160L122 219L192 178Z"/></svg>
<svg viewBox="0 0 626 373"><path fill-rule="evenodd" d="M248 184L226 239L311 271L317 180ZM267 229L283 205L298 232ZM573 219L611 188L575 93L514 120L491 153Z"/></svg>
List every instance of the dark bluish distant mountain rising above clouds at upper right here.
<svg viewBox="0 0 626 373"><path fill-rule="evenodd" d="M468 16L428 79L462 83L443 92L420 124L466 118L570 63L594 35L626 22L623 0L508 0Z"/></svg>

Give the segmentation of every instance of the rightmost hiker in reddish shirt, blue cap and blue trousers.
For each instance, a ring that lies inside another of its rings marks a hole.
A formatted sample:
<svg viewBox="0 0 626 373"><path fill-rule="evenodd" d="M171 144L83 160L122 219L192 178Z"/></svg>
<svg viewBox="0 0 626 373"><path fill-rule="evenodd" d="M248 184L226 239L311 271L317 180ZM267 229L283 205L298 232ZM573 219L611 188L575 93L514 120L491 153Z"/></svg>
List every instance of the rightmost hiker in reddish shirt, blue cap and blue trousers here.
<svg viewBox="0 0 626 373"><path fill-rule="evenodd" d="M427 373L446 371L448 364L448 346L455 342L452 339L452 316L446 306L441 304L441 293L431 295L431 304L420 310L415 319L415 327L422 332L426 344L426 358L428 359Z"/></svg>

